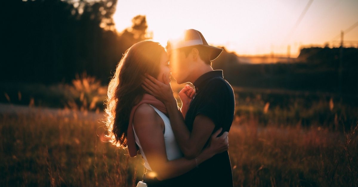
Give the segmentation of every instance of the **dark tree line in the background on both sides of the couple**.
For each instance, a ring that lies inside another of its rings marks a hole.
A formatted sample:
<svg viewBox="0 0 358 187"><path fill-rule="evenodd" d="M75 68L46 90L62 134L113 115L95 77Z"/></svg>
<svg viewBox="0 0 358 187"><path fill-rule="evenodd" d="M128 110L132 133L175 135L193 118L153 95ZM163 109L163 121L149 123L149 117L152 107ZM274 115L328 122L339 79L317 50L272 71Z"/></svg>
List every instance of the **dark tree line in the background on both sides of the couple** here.
<svg viewBox="0 0 358 187"><path fill-rule="evenodd" d="M150 39L144 15L116 31L116 6L117 0L4 1L1 80L68 83L86 72L107 84L125 51ZM279 64L244 64L224 50L213 68L241 87L358 95L357 48L305 48L294 62Z"/></svg>

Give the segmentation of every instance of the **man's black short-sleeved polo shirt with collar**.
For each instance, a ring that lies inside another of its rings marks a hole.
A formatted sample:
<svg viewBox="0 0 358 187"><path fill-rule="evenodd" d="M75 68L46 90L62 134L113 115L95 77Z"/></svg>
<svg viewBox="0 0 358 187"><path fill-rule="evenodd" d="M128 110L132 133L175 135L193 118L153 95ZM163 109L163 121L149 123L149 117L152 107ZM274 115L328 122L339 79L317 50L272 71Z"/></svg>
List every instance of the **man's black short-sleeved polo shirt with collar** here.
<svg viewBox="0 0 358 187"><path fill-rule="evenodd" d="M214 70L203 74L194 82L194 86L196 94L185 116L185 124L189 131L193 129L197 115L205 115L214 122L213 133L220 127L223 128L223 132L229 131L234 118L235 99L231 85L223 78L223 71ZM216 154L203 162L198 168L190 171L190 177L193 182L199 182L194 186L233 186L228 152Z"/></svg>

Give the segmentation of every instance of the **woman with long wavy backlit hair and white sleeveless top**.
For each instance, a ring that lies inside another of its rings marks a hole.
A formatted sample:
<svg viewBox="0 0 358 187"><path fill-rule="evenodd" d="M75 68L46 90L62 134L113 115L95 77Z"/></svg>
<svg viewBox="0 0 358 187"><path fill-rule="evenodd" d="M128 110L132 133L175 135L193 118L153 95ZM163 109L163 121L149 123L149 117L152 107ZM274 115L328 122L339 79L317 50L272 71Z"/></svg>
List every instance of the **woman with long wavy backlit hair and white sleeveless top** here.
<svg viewBox="0 0 358 187"><path fill-rule="evenodd" d="M146 94L141 87L144 74L156 77L160 82L169 78L168 56L159 43L136 43L118 63L115 75L108 85L108 138L118 147L128 147L131 157L136 156L137 151L141 153L147 169L143 180L149 187L186 185L189 181L185 181L184 173L228 149L227 135L216 138L221 132L219 129L211 137L209 147L197 157L183 157L176 144L165 105L154 96ZM192 98L193 89L184 89L188 90L188 98Z"/></svg>

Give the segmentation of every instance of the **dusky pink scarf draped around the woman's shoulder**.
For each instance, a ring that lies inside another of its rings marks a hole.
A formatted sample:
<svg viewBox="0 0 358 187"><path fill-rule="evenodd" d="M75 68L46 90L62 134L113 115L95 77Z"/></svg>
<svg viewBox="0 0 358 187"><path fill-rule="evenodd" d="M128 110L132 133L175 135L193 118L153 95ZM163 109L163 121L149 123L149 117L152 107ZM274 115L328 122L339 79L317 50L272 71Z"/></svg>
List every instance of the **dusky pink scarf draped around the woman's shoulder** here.
<svg viewBox="0 0 358 187"><path fill-rule="evenodd" d="M149 94L143 95L142 100L132 108L131 114L129 116L129 124L128 124L128 130L127 130L127 146L128 146L129 156L131 156L131 157L137 156L137 151L138 151L136 143L135 143L135 139L134 139L133 117L134 117L135 110L139 107L139 105L141 105L143 103L153 105L155 108L160 110L160 112L163 112L164 114L168 114L164 103L162 103L160 100L155 98L153 95L149 95Z"/></svg>

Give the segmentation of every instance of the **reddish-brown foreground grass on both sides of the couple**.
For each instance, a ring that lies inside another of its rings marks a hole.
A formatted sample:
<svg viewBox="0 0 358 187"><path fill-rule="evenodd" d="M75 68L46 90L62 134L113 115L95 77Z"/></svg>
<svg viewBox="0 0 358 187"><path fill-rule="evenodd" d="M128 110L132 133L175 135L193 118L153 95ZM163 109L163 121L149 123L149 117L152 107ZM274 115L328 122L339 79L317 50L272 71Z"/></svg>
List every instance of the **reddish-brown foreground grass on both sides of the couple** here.
<svg viewBox="0 0 358 187"><path fill-rule="evenodd" d="M132 186L141 179L141 158L103 142L96 120L103 114L46 111L1 112L0 186ZM229 133L234 186L357 186L357 131L236 119Z"/></svg>

